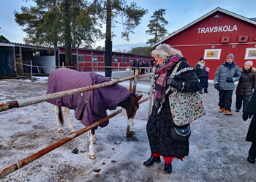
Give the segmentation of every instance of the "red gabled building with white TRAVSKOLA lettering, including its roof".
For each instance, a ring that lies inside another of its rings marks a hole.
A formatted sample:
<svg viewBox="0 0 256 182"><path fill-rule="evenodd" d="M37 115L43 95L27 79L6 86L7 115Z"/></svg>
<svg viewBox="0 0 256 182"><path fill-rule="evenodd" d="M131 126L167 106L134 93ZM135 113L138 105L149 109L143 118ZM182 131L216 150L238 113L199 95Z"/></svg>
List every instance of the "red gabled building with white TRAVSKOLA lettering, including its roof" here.
<svg viewBox="0 0 256 182"><path fill-rule="evenodd" d="M162 43L181 50L192 67L203 57L206 67L211 69L210 79L214 79L217 67L229 53L234 54L239 67L248 60L256 67L256 18L245 18L217 7L153 47Z"/></svg>

